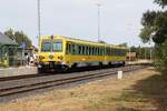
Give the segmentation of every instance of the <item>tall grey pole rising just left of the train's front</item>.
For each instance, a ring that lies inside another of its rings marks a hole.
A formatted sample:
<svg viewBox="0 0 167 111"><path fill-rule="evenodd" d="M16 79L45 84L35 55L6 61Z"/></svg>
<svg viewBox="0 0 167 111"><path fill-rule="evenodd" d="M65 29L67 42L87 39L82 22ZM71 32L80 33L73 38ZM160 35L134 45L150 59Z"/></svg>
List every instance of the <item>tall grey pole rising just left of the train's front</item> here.
<svg viewBox="0 0 167 111"><path fill-rule="evenodd" d="M41 38L41 24L40 24L40 0L37 2L37 8L38 8L38 48L40 48L40 38ZM39 49L38 49L39 50Z"/></svg>

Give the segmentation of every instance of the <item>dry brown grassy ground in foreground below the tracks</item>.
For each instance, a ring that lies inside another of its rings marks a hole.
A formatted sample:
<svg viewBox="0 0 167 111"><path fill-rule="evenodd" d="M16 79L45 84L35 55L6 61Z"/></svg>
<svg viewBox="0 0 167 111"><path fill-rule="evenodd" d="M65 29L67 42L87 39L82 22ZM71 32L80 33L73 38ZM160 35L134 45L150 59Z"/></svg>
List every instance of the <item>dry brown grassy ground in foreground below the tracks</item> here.
<svg viewBox="0 0 167 111"><path fill-rule="evenodd" d="M0 111L166 111L166 80L149 68L122 80L104 79L1 103Z"/></svg>

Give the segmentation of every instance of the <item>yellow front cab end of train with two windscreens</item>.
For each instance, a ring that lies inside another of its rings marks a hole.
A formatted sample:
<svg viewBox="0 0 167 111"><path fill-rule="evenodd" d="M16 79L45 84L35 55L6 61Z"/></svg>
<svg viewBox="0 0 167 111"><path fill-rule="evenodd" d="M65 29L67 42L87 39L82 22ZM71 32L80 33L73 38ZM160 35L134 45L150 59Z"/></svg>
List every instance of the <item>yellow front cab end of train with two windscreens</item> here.
<svg viewBox="0 0 167 111"><path fill-rule="evenodd" d="M68 65L63 62L65 39L61 37L47 37L40 40L39 71L65 69Z"/></svg>

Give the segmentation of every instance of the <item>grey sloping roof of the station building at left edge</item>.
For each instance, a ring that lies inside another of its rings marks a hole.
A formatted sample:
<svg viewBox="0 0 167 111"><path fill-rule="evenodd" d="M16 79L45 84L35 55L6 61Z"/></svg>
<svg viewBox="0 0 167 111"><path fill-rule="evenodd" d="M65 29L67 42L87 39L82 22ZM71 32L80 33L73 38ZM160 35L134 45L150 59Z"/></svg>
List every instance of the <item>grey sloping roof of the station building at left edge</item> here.
<svg viewBox="0 0 167 111"><path fill-rule="evenodd" d="M11 44L17 46L17 42L11 40L9 37L0 32L0 44Z"/></svg>

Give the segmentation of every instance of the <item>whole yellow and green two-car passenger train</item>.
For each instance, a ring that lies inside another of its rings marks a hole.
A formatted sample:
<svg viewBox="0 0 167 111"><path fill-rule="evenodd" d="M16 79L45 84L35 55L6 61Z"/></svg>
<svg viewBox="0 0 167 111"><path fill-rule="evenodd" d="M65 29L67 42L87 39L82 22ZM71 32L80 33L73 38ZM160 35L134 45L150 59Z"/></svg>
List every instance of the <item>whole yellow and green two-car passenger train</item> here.
<svg viewBox="0 0 167 111"><path fill-rule="evenodd" d="M40 39L39 72L85 65L125 64L126 48L61 36Z"/></svg>

